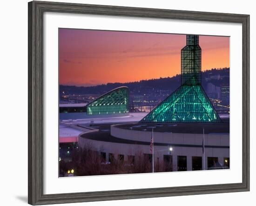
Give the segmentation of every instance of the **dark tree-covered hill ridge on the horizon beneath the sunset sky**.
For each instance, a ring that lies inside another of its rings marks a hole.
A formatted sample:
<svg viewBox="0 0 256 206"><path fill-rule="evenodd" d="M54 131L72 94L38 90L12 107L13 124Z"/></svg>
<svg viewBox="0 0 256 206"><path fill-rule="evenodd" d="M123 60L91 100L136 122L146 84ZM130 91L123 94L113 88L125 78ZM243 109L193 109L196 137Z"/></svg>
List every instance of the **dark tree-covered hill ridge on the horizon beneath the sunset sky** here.
<svg viewBox="0 0 256 206"><path fill-rule="evenodd" d="M218 79L219 75L219 79ZM215 78L216 76L216 78ZM229 84L229 68L214 68L202 72L202 86L206 88L207 83L211 82L216 86ZM172 93L181 85L181 75L177 74L173 77L141 80L127 83L108 83L97 86L65 86L60 85L60 94L64 92L66 95L73 94L103 94L119 86L128 86L131 94L144 94L151 92L166 91Z"/></svg>

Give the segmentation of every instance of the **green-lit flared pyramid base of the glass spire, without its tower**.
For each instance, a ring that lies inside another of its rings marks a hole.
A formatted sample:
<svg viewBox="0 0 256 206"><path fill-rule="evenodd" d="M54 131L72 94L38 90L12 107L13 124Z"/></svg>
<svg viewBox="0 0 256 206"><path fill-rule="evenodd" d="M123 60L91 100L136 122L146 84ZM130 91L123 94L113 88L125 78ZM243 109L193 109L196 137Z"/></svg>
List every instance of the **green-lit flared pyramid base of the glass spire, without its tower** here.
<svg viewBox="0 0 256 206"><path fill-rule="evenodd" d="M201 85L182 85L141 122L221 122L221 119Z"/></svg>

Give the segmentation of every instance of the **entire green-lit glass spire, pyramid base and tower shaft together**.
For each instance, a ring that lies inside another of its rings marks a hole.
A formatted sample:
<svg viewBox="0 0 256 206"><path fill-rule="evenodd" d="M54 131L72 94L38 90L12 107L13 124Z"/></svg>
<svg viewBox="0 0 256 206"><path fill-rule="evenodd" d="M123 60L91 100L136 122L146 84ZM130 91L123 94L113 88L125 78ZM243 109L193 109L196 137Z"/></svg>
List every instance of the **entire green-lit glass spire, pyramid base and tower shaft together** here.
<svg viewBox="0 0 256 206"><path fill-rule="evenodd" d="M187 35L187 45L182 48L182 86L140 122L222 122L201 86L198 36Z"/></svg>

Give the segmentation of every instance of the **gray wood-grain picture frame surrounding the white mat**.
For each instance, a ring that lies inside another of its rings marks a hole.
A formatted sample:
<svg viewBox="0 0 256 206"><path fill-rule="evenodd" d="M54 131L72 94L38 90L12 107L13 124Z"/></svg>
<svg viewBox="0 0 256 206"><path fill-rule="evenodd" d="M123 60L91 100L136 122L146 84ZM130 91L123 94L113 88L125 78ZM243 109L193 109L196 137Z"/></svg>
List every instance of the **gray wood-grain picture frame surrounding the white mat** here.
<svg viewBox="0 0 256 206"><path fill-rule="evenodd" d="M43 194L43 13L85 13L240 23L243 27L243 182ZM249 15L32 1L28 3L28 203L31 205L249 191Z"/></svg>

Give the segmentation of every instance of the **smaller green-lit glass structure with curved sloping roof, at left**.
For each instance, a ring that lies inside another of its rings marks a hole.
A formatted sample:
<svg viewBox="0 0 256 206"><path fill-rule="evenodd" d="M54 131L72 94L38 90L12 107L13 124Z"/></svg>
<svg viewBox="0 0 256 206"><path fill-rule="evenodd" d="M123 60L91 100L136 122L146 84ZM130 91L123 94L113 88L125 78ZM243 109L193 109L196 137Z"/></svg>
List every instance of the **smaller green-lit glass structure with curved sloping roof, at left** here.
<svg viewBox="0 0 256 206"><path fill-rule="evenodd" d="M88 115L128 113L128 87L122 86L106 94L87 105Z"/></svg>

